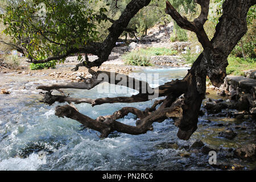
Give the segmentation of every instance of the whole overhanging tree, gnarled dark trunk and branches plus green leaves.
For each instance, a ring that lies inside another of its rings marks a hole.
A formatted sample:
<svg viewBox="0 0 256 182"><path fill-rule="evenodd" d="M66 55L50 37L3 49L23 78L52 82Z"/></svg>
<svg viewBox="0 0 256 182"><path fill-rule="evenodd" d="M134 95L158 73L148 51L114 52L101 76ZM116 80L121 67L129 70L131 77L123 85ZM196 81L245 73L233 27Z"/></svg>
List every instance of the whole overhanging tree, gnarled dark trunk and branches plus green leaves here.
<svg viewBox="0 0 256 182"><path fill-rule="evenodd" d="M44 16L35 14L35 5L44 2L47 13ZM3 20L7 25L6 34L14 36L20 42L18 49L28 56L31 63L46 63L51 60L60 60L73 55L73 53L92 53L97 55L98 59L90 62L83 60L74 69L77 71L80 66L89 69L92 78L84 79L84 82L64 82L61 84L41 85L38 89L45 90L41 93L44 96L44 102L53 104L54 102L68 102L69 105L57 106L55 115L58 117L67 117L75 119L90 129L100 131L101 137L108 137L112 131L118 131L127 134L144 134L148 130L153 130L153 122L163 122L167 118L174 119L175 125L179 127L177 137L188 140L197 129L197 121L201 102L205 98L205 81L209 76L214 86L220 86L226 76L226 67L228 65L227 57L236 46L237 42L245 35L247 31L246 15L250 6L255 5L255 0L226 0L222 5L222 15L216 26L216 33L212 40L209 40L204 30L204 23L208 18L209 0L195 0L194 2L201 6L201 13L189 22L181 16L170 2L166 2L166 13L170 15L181 27L196 33L199 42L204 51L197 57L187 76L182 80L175 80L160 85L152 89L147 83L138 81L135 78L121 75L123 79L131 82L139 82L139 87L130 86L138 90L137 95L131 97L115 98L72 98L67 97L60 89L92 89L102 82L110 84L119 84L119 80L114 82L109 79L98 80L101 73L111 75L110 72L95 72L92 67L100 67L108 57L115 46L119 36L127 30L127 26L143 7L150 3L150 0L132 0L117 20L108 18L102 7L99 11L90 9L90 3L97 1L32 1L31 4L23 3L16 8L8 7ZM109 34L103 42L97 40L97 30L95 23L101 23L102 20L109 20L112 26L108 28ZM116 74L116 73L115 73ZM146 93L143 86L146 85ZM51 90L59 90L61 95L53 96ZM150 90L153 92L150 92ZM163 100L155 101L152 107L144 111L134 107L123 107L112 115L101 116L97 119L79 113L75 106L71 104L89 103L101 105L105 103L116 102L143 102L151 100L149 97L158 93L158 97L166 96ZM156 106L158 106L156 109ZM136 126L125 125L118 122L117 119L124 117L128 113L137 115L139 120Z"/></svg>

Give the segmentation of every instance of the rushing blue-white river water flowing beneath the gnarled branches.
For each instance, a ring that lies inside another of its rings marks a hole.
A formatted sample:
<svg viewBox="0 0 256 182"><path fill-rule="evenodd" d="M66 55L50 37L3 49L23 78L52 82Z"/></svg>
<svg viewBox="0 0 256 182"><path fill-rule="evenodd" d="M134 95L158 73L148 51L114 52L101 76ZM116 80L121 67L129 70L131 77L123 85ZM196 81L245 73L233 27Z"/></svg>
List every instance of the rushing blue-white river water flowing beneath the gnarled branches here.
<svg viewBox="0 0 256 182"><path fill-rule="evenodd" d="M133 73L159 73L154 77L152 86L176 78L183 78L188 68L149 69ZM142 135L121 133L110 134L108 138L98 138L98 133L84 129L79 122L68 118L57 118L55 107L40 103L42 96L36 86L51 84L54 81L40 80L38 77L19 77L0 73L0 85L11 94L0 94L0 170L208 170L208 155L192 153L188 158L180 156L184 149L157 147L164 142L176 143L178 146L190 146L196 139L213 147L237 147L250 143L249 131L238 134L236 140L222 139L217 132L222 127L213 123L231 123L235 119L208 118L199 119L199 129L188 141L176 137L177 127L171 119L154 123L154 131ZM108 84L104 84L109 86ZM100 85L98 85L100 86ZM133 90L126 94L98 93L98 86L92 90L67 89L72 97L115 97L131 96ZM117 86L112 85L111 88ZM100 115L109 115L123 106L138 109L150 107L154 101L135 104L104 104L90 106L77 105L82 114L95 119ZM135 115L129 114L119 121L135 126ZM207 122L205 122L207 121ZM211 121L211 122L209 122ZM247 140L245 139L247 137ZM233 159L226 163L241 163ZM201 164L201 165L198 165ZM250 168L253 163L243 164Z"/></svg>

